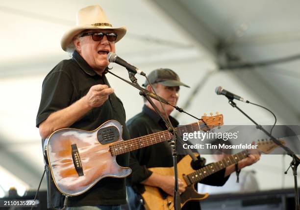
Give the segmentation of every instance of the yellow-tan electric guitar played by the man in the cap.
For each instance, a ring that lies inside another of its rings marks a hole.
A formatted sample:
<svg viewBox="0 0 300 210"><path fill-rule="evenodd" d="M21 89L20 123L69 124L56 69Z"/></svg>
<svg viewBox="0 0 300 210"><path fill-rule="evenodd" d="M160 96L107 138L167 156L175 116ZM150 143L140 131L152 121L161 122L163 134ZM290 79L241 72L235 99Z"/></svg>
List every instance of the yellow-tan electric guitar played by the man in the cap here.
<svg viewBox="0 0 300 210"><path fill-rule="evenodd" d="M283 140L279 140L282 144L285 144ZM257 150L260 153L268 154L273 151L277 144L272 140L263 140L257 142ZM195 190L194 184L200 182L205 177L216 173L229 165L235 164L238 161L248 157L251 154L249 150L242 151L238 154L225 157L224 159L209 164L199 170L194 170L191 166L192 158L187 155L183 157L177 164L178 178L181 179L185 186L185 191L180 195L181 207L188 201L200 201L208 197L208 193L198 193ZM256 153L257 154L257 153ZM156 167L149 168L154 173L174 176L174 167ZM145 202L145 208L147 210L174 210L174 197L165 193L158 187L145 185L145 192L142 197Z"/></svg>

